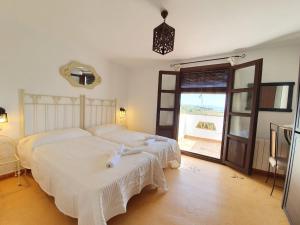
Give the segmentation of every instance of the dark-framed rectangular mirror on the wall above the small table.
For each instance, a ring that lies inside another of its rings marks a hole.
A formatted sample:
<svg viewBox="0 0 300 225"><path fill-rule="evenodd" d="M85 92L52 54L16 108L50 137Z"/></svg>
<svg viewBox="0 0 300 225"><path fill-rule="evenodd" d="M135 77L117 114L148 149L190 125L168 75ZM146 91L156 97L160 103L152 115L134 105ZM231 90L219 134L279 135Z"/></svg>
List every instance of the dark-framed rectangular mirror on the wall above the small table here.
<svg viewBox="0 0 300 225"><path fill-rule="evenodd" d="M292 112L294 82L262 83L260 111Z"/></svg>

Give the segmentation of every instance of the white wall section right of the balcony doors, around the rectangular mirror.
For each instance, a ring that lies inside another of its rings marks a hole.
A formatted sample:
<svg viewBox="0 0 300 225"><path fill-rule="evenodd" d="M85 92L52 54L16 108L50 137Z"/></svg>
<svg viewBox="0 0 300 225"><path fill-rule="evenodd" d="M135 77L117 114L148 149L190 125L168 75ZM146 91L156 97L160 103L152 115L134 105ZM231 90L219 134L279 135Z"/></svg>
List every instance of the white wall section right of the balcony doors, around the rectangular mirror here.
<svg viewBox="0 0 300 225"><path fill-rule="evenodd" d="M257 137L269 137L269 123L292 124L295 108L299 73L300 46L257 49L247 52L247 59L263 58L262 82L293 81L294 95L292 113L288 112L259 112Z"/></svg>

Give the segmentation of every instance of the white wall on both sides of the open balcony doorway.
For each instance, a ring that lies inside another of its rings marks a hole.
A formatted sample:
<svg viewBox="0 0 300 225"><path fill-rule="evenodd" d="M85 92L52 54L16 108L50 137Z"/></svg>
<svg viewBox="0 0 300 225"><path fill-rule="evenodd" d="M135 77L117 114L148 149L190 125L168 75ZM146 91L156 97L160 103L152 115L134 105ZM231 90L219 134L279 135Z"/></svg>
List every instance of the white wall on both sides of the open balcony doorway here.
<svg viewBox="0 0 300 225"><path fill-rule="evenodd" d="M269 122L291 124L293 121L299 70L300 46L288 45L250 49L245 51L247 57L243 61L264 59L262 82L295 82L293 96L293 112L259 112L257 137L269 136ZM230 55L230 54L227 54ZM219 61L217 63L224 63ZM200 64L198 64L200 65ZM195 64L193 66L196 66ZM169 63L153 64L131 71L128 93L128 126L136 130L155 132L158 71L171 70Z"/></svg>

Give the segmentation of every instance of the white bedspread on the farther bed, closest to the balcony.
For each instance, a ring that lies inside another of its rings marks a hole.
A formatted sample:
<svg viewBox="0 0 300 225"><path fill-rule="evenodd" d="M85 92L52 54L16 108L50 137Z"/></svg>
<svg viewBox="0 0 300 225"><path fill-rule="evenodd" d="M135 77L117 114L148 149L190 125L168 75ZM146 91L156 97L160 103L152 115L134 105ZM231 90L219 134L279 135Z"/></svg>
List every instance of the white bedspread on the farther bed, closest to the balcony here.
<svg viewBox="0 0 300 225"><path fill-rule="evenodd" d="M115 126L115 129L102 129L100 127L88 130L98 137L118 144L124 144L127 147L145 147L146 152L158 157L162 168L168 167L169 162L174 160L177 161L179 165L181 163L181 153L176 140L166 138L166 142L158 141L146 146L145 139L151 136L147 133L131 131L119 126Z"/></svg>

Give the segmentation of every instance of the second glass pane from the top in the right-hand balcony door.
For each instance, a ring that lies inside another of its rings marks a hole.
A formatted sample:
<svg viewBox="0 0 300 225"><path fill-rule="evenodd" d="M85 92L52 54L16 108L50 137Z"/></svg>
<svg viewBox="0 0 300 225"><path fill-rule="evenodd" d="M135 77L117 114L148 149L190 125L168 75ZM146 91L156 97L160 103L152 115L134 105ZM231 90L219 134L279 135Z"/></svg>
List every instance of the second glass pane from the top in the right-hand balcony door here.
<svg viewBox="0 0 300 225"><path fill-rule="evenodd" d="M232 95L232 112L251 113L252 92L234 93Z"/></svg>

